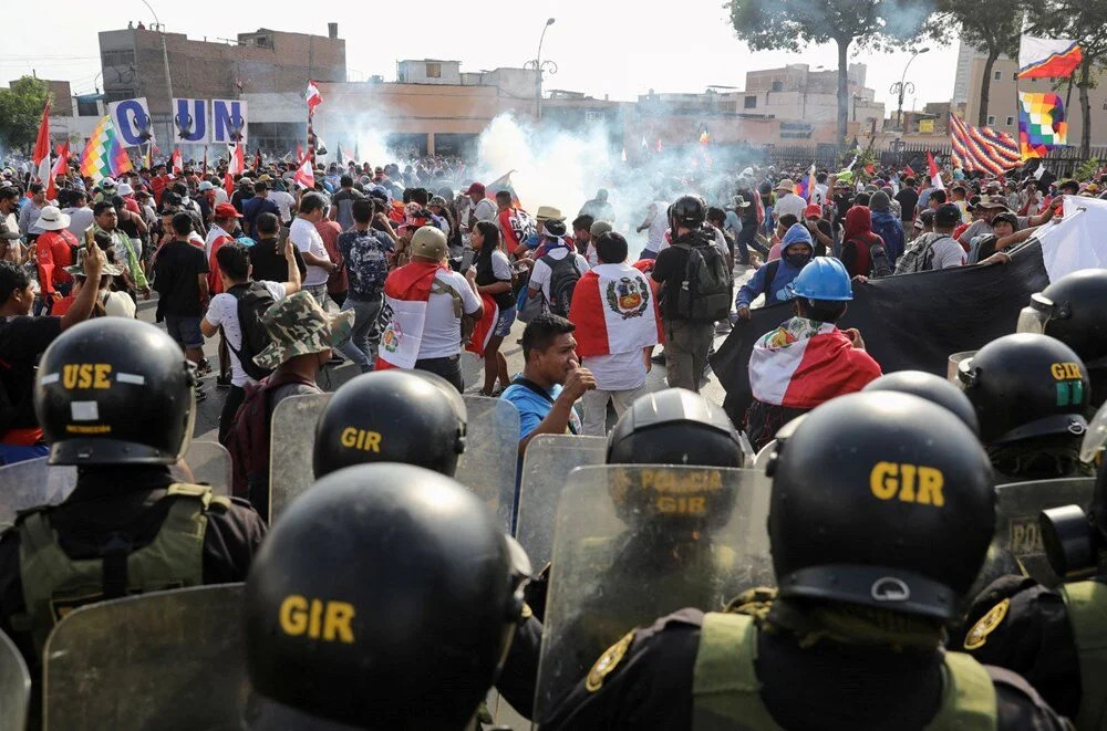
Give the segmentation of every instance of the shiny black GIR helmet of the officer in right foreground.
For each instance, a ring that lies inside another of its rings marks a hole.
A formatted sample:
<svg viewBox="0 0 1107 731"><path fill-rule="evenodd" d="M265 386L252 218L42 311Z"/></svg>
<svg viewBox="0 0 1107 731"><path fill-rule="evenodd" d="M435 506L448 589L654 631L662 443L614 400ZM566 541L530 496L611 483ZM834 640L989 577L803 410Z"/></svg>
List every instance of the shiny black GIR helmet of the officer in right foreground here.
<svg viewBox="0 0 1107 731"><path fill-rule="evenodd" d="M987 455L952 413L909 394L836 398L807 415L772 477L782 596L958 613L992 540L995 493Z"/></svg>

